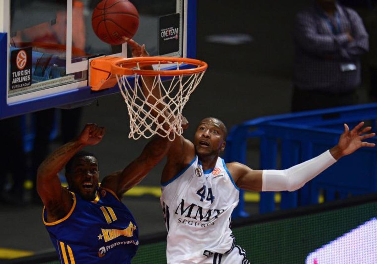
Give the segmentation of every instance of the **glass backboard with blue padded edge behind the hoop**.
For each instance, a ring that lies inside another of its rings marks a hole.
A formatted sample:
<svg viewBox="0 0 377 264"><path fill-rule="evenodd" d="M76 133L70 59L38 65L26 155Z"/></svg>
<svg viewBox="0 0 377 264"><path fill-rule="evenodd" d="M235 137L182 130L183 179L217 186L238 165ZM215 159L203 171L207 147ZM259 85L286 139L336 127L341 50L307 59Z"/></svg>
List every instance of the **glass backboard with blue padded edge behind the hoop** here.
<svg viewBox="0 0 377 264"><path fill-rule="evenodd" d="M88 86L90 58L130 56L126 44L109 45L93 32L92 12L99 2L0 0L0 118L73 108L119 92L118 87L95 92ZM151 56L195 58L195 0L130 2L139 12L133 39Z"/></svg>

